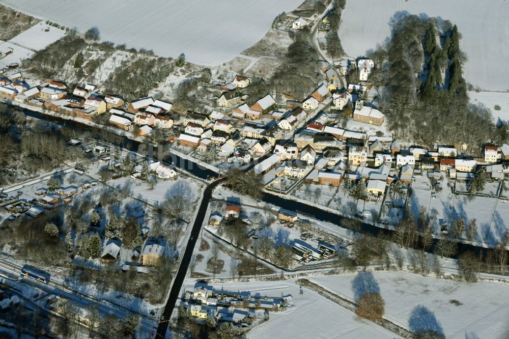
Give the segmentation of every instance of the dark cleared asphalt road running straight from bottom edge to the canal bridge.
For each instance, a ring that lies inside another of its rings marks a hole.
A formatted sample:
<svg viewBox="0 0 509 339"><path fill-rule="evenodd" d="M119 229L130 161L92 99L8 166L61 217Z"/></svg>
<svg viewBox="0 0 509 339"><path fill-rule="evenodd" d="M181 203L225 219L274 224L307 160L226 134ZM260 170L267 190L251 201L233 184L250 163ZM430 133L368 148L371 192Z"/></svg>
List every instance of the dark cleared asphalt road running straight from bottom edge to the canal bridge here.
<svg viewBox="0 0 509 339"><path fill-rule="evenodd" d="M184 279L187 274L187 268L189 267L189 262L191 261L192 253L194 251L194 246L196 245L196 240L200 235L200 230L202 229L203 221L205 219L205 213L207 212L207 207L209 205L210 199L212 197L212 191L214 188L219 185L224 179L217 179L212 182L210 185L205 188L203 192L202 204L198 208L198 213L196 214L196 219L194 219L194 224L191 230L191 236L189 237L189 241L187 242L186 250L184 251L184 255L180 261L179 270L177 271L177 275L173 281L172 290L169 292L169 298L166 302L166 306L164 306L164 311L162 313L161 320L159 325L157 326L157 338L164 338L166 335L166 331L168 329L169 319L172 316L173 309L175 308L175 304L177 303L177 299L180 294L180 289L182 284L184 283Z"/></svg>

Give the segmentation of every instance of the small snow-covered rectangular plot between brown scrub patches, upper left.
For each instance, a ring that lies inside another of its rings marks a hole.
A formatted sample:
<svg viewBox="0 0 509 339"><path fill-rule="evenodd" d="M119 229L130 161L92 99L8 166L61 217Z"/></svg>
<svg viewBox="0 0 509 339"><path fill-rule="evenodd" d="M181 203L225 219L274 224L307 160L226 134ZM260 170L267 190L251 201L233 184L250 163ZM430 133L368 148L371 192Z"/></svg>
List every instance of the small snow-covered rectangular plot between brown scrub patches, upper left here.
<svg viewBox="0 0 509 339"><path fill-rule="evenodd" d="M46 30L48 30L48 32L45 32ZM10 41L21 46L40 50L64 37L64 35L65 31L47 25L45 22L39 22L35 26L30 27L30 29L12 38Z"/></svg>

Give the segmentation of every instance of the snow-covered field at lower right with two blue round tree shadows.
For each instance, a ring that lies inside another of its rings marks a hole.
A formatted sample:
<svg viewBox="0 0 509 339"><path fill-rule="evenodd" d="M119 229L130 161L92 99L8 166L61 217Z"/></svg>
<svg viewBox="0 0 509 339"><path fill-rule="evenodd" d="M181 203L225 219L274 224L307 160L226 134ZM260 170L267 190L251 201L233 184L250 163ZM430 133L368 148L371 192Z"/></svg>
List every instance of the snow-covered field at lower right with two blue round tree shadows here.
<svg viewBox="0 0 509 339"><path fill-rule="evenodd" d="M405 272L363 272L310 278L354 301L364 286L385 300L384 318L415 331L434 329L447 338L507 337L509 286L458 283Z"/></svg>

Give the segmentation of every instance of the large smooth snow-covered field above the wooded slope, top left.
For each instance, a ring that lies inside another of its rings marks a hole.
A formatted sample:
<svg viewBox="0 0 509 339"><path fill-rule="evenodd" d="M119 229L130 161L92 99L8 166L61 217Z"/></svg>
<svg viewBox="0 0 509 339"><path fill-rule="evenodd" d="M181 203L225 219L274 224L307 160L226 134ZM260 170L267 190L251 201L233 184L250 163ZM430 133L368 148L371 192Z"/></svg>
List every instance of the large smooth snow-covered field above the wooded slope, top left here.
<svg viewBox="0 0 509 339"><path fill-rule="evenodd" d="M97 26L101 41L152 49L162 56L184 52L188 61L207 66L233 59L264 36L277 14L292 11L301 2L0 0L0 4L77 27L80 32Z"/></svg>

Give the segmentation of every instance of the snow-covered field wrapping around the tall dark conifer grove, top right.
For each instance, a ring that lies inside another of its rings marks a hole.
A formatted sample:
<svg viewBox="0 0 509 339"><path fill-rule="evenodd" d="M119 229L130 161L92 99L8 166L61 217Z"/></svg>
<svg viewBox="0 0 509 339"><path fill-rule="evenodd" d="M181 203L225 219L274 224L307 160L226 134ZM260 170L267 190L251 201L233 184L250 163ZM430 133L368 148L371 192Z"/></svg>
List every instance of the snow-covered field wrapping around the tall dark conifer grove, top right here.
<svg viewBox="0 0 509 339"><path fill-rule="evenodd" d="M466 81L485 90L509 88L509 68L488 66L509 58L505 23L509 3L500 0L483 4L462 0L347 1L339 30L346 53L356 57L382 43L390 35L389 21L398 11L426 13L456 23L463 35L460 46L468 56L464 69Z"/></svg>

